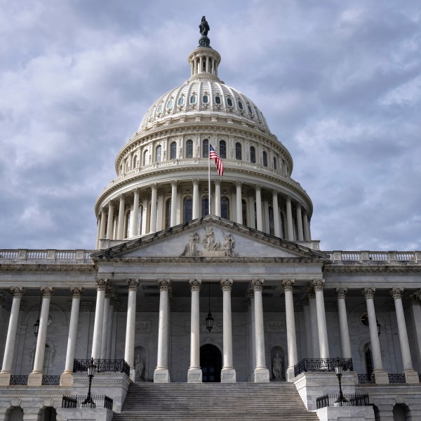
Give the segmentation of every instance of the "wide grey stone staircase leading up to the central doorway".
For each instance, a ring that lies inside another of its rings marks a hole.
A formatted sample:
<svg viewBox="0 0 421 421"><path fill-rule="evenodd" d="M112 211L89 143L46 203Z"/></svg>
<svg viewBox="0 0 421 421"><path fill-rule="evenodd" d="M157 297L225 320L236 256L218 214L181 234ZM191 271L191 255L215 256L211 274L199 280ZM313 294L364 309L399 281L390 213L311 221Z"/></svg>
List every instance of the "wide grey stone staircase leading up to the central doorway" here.
<svg viewBox="0 0 421 421"><path fill-rule="evenodd" d="M318 421L295 385L282 383L132 384L113 421Z"/></svg>

